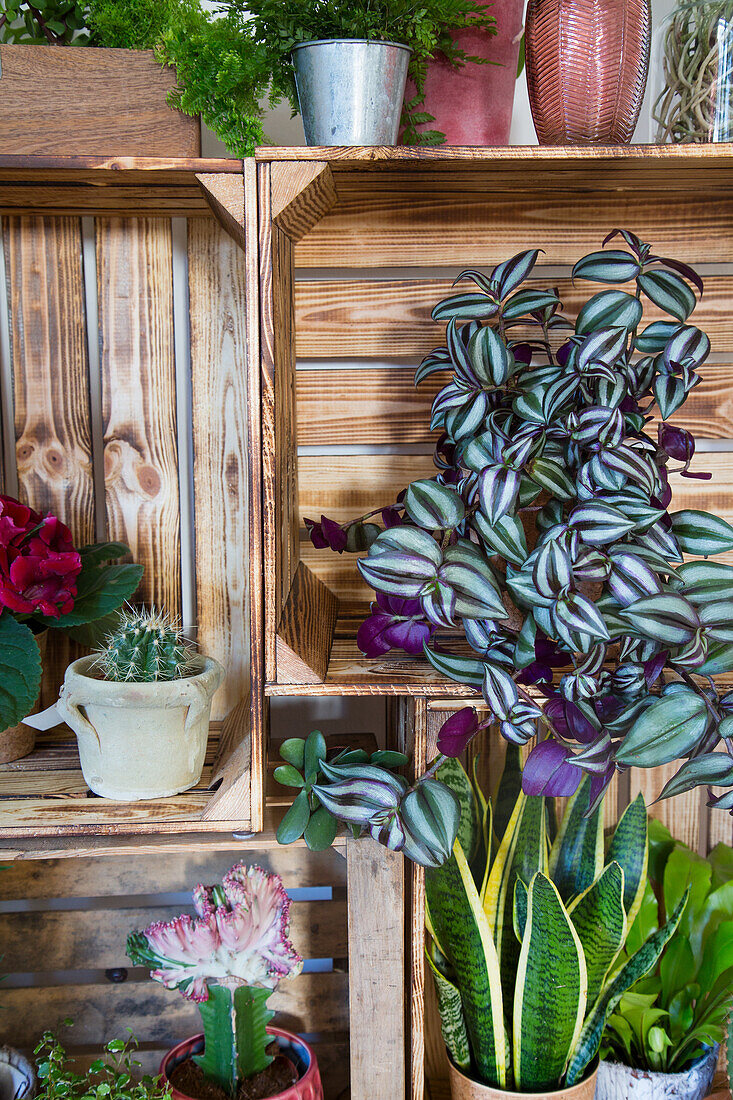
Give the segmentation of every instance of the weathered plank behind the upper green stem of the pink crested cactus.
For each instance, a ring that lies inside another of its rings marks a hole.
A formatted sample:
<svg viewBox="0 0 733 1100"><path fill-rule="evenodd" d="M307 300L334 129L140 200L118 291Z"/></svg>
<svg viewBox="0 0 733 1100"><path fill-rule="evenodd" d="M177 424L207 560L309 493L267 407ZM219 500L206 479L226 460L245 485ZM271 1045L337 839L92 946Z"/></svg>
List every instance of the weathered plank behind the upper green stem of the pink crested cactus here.
<svg viewBox="0 0 733 1100"><path fill-rule="evenodd" d="M300 975L284 981L270 1005L283 1027L343 1031L349 1022L347 985L346 974ZM8 1019L13 1021L13 1042L19 1047L33 1047L44 1026L39 1021L39 990L6 988L3 1004ZM43 1012L50 1022L72 1016L74 1042L79 1045L98 1044L101 1036L123 1035L129 1027L149 1043L173 1046L182 1035L200 1031L196 1005L155 981L46 987Z"/></svg>

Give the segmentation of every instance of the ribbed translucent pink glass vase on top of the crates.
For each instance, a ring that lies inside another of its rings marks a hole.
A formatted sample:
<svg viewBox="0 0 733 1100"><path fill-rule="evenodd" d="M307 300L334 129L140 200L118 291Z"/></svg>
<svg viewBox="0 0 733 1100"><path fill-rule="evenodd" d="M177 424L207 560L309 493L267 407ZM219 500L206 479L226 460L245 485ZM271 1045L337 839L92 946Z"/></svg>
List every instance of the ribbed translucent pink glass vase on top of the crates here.
<svg viewBox="0 0 733 1100"><path fill-rule="evenodd" d="M539 144L630 142L649 35L648 0L529 0L527 86Z"/></svg>

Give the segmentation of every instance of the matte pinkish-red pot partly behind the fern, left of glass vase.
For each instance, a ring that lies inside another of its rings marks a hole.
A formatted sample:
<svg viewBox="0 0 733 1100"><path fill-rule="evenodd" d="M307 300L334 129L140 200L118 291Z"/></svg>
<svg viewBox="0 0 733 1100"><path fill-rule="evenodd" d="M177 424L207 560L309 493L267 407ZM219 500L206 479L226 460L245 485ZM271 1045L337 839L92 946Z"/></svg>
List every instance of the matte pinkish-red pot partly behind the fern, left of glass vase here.
<svg viewBox="0 0 733 1100"><path fill-rule="evenodd" d="M493 3L486 3L493 9ZM460 31L456 43L467 54L496 64L455 69L436 58L425 78L425 107L435 122L418 130L440 130L448 145L508 145L516 86L524 0L505 0L496 11L496 34ZM408 84L406 99L415 95Z"/></svg>

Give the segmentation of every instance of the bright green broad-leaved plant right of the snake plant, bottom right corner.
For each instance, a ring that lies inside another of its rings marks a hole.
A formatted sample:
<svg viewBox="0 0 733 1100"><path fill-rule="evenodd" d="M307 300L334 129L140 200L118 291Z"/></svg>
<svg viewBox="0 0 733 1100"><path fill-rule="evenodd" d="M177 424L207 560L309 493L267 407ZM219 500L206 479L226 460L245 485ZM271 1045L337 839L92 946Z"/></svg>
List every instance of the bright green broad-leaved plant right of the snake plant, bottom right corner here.
<svg viewBox="0 0 733 1100"><path fill-rule="evenodd" d="M733 1008L733 854L719 844L703 859L649 822L649 881L626 953L660 927L689 889L687 905L656 967L609 1018L603 1057L677 1074L721 1043Z"/></svg>

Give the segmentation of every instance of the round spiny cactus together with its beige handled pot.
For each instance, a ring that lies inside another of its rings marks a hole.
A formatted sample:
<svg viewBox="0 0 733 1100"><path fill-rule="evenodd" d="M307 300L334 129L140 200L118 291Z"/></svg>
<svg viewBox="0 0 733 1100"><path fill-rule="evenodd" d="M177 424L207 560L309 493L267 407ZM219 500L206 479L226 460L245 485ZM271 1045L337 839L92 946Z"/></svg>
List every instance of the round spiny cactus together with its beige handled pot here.
<svg viewBox="0 0 733 1100"><path fill-rule="evenodd" d="M58 701L90 790L135 801L195 787L222 681L168 616L125 608L102 649L69 664Z"/></svg>

